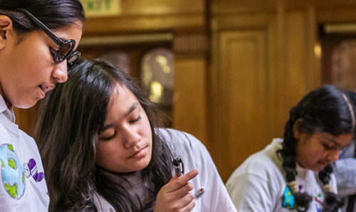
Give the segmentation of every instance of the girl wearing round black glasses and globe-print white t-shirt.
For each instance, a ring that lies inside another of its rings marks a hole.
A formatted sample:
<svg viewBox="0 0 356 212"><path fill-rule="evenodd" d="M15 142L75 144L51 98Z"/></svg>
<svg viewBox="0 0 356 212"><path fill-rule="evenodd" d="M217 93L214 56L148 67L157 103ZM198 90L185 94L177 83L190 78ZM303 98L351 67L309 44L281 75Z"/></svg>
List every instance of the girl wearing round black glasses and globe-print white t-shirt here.
<svg viewBox="0 0 356 212"><path fill-rule="evenodd" d="M48 211L36 143L14 123L67 80L85 21L79 0L0 2L0 211Z"/></svg>

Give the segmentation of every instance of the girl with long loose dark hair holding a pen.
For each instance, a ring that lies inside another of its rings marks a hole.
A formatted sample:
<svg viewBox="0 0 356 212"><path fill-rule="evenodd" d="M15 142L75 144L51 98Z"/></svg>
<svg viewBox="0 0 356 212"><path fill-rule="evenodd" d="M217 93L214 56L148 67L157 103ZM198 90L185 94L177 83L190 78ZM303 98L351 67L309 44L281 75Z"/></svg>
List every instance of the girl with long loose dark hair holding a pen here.
<svg viewBox="0 0 356 212"><path fill-rule="evenodd" d="M236 211L204 145L157 128L146 92L112 65L75 65L43 107L36 138L50 211Z"/></svg>

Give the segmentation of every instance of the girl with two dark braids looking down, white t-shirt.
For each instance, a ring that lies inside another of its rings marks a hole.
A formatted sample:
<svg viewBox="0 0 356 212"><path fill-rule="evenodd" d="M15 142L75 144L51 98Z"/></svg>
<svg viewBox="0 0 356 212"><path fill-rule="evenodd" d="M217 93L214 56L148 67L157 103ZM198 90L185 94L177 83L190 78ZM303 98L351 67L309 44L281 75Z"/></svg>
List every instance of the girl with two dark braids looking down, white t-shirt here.
<svg viewBox="0 0 356 212"><path fill-rule="evenodd" d="M354 137L347 94L323 85L290 110L283 139L251 155L230 176L238 211L339 211L333 167Z"/></svg>

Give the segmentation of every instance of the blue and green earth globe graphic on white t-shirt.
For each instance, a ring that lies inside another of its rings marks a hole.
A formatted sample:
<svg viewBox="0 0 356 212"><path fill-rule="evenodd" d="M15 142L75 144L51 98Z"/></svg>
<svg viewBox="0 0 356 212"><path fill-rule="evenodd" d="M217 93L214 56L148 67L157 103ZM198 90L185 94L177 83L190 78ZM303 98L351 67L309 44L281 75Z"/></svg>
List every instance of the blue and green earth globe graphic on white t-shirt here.
<svg viewBox="0 0 356 212"><path fill-rule="evenodd" d="M25 191L25 174L11 144L0 146L1 180L7 193L19 199Z"/></svg>

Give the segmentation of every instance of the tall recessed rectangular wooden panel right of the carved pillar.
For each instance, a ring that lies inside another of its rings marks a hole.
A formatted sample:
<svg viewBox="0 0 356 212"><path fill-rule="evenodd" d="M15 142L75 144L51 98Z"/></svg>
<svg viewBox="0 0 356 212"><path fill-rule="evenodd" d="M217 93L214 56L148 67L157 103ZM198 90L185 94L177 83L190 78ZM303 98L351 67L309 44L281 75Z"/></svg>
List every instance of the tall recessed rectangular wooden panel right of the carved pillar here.
<svg viewBox="0 0 356 212"><path fill-rule="evenodd" d="M268 31L221 31L215 76L221 117L215 140L218 169L223 180L251 153L271 142L271 102L268 83ZM215 104L214 103L214 104Z"/></svg>

